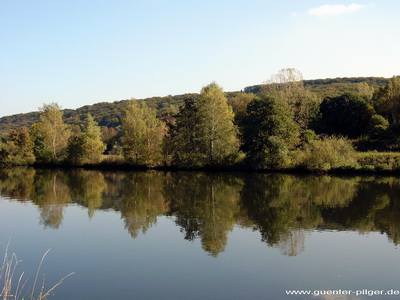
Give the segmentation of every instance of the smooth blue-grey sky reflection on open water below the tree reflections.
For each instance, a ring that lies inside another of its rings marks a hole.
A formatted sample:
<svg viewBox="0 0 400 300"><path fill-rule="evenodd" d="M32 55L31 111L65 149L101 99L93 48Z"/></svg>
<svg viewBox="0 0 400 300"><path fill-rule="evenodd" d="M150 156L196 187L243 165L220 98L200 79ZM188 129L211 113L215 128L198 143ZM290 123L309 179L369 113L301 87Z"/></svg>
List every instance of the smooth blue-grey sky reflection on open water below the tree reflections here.
<svg viewBox="0 0 400 300"><path fill-rule="evenodd" d="M12 236L11 248L24 261L21 270L35 270L52 248L43 266L46 281L76 272L57 289L56 300L298 299L285 290L390 289L400 275L398 251L379 233L307 231L305 251L285 256L261 242L259 232L234 226L224 252L213 257L199 239L183 238L175 217L158 217L133 239L117 212L98 211L89 219L87 209L67 206L62 226L51 230L39 224L37 207L1 200L0 226L7 228L0 240Z"/></svg>

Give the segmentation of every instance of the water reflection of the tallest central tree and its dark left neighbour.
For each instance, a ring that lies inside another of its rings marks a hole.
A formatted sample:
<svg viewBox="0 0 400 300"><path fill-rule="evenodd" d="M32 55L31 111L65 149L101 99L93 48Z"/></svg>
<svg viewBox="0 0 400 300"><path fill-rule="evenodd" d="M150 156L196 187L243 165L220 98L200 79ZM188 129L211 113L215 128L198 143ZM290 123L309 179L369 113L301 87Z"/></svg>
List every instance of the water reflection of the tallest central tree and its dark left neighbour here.
<svg viewBox="0 0 400 300"><path fill-rule="evenodd" d="M242 181L233 175L176 173L164 193L185 239L201 238L202 248L217 256L235 224L241 187Z"/></svg>

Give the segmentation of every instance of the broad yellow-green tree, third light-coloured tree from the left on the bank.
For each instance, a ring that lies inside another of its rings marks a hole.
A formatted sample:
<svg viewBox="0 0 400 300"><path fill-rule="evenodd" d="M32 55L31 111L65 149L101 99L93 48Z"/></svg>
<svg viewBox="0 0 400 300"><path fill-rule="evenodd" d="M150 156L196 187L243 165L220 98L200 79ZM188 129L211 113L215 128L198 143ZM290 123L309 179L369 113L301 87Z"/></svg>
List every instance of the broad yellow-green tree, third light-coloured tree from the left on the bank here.
<svg viewBox="0 0 400 300"><path fill-rule="evenodd" d="M162 141L166 126L156 111L145 103L132 100L123 119L123 151L128 163L157 165L162 160Z"/></svg>

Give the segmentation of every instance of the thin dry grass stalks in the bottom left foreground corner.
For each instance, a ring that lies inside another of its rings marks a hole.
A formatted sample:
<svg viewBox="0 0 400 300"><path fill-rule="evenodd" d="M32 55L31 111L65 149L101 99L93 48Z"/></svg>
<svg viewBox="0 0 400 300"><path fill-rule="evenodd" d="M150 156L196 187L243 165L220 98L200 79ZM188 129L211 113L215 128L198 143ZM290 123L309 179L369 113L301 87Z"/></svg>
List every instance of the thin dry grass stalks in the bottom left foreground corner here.
<svg viewBox="0 0 400 300"><path fill-rule="evenodd" d="M9 244L7 244L4 252L4 258L3 258L3 263L0 267L0 299L2 300L24 300L25 298L22 297L21 295L24 292L24 295L28 295L29 291L25 291L25 285L28 281L28 279L24 279L24 274L25 272L22 272L15 285L15 280L16 280L16 270L17 266L21 263L21 260L19 260L16 256L15 253L13 253L11 256L8 253L8 248ZM30 295L27 296L29 300L45 300L47 299L48 296L57 288L61 283L63 283L64 279L67 277L75 274L75 272L72 272L63 278L61 278L55 285L53 285L49 289L45 289L44 286L44 276L43 276L43 281L42 285L40 287L40 291L37 295L35 295L35 288L37 284L37 279L39 276L40 268L43 264L43 261L46 257L46 255L50 252L50 249L46 251L46 253L42 256L42 259L39 263L38 269L36 271L36 276L35 276L35 281L33 283L32 290L30 292Z"/></svg>

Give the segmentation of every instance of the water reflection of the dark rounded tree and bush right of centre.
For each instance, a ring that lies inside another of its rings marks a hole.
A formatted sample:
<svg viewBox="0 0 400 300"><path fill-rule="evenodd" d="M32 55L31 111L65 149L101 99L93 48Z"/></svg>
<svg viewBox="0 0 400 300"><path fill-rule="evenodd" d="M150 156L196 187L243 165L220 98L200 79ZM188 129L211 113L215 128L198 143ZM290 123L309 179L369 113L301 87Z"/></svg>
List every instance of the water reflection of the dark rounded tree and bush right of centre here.
<svg viewBox="0 0 400 300"><path fill-rule="evenodd" d="M251 174L242 189L242 206L262 240L286 255L304 249L305 230L323 223L321 209L344 207L356 181L329 176Z"/></svg>

